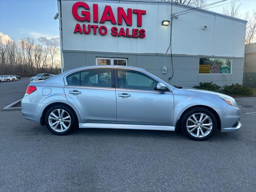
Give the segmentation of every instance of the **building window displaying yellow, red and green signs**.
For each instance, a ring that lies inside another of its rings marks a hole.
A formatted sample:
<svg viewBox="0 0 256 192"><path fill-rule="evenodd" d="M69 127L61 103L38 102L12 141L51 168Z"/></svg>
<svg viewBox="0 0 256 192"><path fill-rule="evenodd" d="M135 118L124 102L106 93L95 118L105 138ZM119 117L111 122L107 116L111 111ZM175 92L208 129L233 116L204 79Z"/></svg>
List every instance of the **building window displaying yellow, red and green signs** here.
<svg viewBox="0 0 256 192"><path fill-rule="evenodd" d="M231 74L231 58L200 58L199 74Z"/></svg>

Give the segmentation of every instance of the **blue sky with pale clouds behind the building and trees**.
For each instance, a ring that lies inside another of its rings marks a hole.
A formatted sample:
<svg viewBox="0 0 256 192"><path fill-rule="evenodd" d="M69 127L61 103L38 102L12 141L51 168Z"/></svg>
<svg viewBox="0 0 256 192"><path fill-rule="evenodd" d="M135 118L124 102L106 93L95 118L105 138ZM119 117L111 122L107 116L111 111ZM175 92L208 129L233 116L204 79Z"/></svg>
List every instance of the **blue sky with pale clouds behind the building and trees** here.
<svg viewBox="0 0 256 192"><path fill-rule="evenodd" d="M207 3L218 1L220 0L208 0ZM240 0L240 2L241 16L247 10L252 12L256 9L256 0ZM209 10L222 13L223 6ZM53 19L56 12L58 12L57 0L0 0L0 38L12 38L18 41L30 36L37 42L59 46L59 20Z"/></svg>

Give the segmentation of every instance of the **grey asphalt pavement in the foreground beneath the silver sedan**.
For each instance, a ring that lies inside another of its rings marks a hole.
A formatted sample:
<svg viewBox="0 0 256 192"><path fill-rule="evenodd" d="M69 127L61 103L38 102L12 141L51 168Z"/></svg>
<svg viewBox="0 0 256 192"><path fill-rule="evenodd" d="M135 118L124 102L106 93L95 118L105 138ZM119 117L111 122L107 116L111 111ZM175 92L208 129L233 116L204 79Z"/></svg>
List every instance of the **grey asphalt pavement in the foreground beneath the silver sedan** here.
<svg viewBox="0 0 256 192"><path fill-rule="evenodd" d="M236 100L242 128L203 142L152 130L56 136L20 111L0 111L0 191L254 192L256 98Z"/></svg>

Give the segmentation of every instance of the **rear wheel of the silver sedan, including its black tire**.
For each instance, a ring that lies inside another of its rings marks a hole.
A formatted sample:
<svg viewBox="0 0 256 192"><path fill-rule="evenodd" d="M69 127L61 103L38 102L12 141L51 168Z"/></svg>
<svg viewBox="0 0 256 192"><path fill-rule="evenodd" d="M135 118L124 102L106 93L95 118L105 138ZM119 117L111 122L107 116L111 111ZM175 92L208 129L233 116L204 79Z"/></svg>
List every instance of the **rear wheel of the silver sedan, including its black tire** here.
<svg viewBox="0 0 256 192"><path fill-rule="evenodd" d="M61 119L61 115L58 115L59 113L58 110L60 110L60 114L64 110L64 113L62 116L63 120ZM55 114L55 116L52 115L52 113ZM58 118L56 118L56 116ZM70 116L70 118L67 118L68 116ZM70 122L68 122L69 120ZM70 110L70 108L63 105L56 105L48 109L48 111L46 112L45 124L50 132L56 135L66 135L76 127L77 121L76 121L74 112ZM53 124L53 125L50 126L50 124Z"/></svg>

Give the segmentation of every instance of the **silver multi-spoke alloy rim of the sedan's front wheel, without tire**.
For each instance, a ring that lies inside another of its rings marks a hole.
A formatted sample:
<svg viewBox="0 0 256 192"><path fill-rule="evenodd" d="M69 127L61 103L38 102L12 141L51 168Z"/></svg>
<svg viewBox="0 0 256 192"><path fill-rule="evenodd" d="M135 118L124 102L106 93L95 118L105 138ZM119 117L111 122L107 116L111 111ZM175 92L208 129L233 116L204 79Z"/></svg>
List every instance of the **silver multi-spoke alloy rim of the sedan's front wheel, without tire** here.
<svg viewBox="0 0 256 192"><path fill-rule="evenodd" d="M212 131L212 120L204 113L195 113L188 118L186 128L190 135L202 138Z"/></svg>

